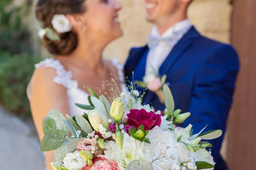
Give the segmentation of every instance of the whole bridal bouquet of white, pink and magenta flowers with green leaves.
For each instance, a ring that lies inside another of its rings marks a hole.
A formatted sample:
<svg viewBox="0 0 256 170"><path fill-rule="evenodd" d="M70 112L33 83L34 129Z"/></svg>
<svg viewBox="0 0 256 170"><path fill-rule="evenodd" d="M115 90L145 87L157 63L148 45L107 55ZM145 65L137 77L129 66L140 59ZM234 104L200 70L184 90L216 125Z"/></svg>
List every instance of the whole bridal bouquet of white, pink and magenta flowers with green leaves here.
<svg viewBox="0 0 256 170"><path fill-rule="evenodd" d="M212 147L221 130L192 134L192 125L177 127L190 116L174 111L173 97L163 86L166 109L142 105L140 93L123 92L110 105L89 89L90 106L83 116L66 118L51 110L43 120L41 151L55 150L54 170L198 170L213 169ZM70 134L72 133L72 135ZM70 136L70 137L68 137Z"/></svg>

